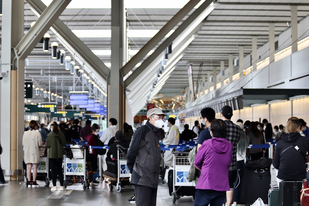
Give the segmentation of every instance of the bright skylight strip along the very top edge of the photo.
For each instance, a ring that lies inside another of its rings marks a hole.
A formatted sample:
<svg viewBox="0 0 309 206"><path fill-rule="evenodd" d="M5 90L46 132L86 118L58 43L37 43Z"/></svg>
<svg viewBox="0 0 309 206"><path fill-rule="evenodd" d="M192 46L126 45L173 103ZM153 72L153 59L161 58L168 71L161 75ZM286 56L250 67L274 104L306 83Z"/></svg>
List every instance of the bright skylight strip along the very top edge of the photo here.
<svg viewBox="0 0 309 206"><path fill-rule="evenodd" d="M205 0L201 1L194 8L199 7ZM52 0L42 0L42 2L48 6ZM124 0L125 8L134 9L181 9L189 0L177 0L177 1L141 1L141 0ZM67 9L110 9L111 0L98 1L98 0L74 0L66 7Z"/></svg>

